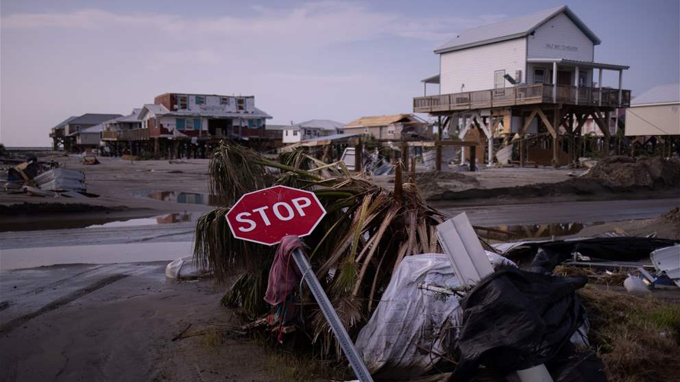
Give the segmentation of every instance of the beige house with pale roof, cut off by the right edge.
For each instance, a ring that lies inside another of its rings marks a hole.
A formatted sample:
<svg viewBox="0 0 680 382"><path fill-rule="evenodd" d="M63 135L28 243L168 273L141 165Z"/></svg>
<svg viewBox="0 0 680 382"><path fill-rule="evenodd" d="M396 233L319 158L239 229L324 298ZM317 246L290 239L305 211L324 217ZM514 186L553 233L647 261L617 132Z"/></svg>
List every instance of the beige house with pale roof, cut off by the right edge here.
<svg viewBox="0 0 680 382"><path fill-rule="evenodd" d="M631 101L627 136L680 136L680 84L659 85Z"/></svg>

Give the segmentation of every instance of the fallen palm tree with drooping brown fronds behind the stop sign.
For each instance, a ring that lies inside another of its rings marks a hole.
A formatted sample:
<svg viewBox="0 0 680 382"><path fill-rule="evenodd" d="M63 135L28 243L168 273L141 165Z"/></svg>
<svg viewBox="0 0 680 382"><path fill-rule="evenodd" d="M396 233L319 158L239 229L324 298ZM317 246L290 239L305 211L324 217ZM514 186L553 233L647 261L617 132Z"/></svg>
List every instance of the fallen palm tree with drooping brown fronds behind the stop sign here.
<svg viewBox="0 0 680 382"><path fill-rule="evenodd" d="M239 275L223 302L239 305L252 316L263 313L275 247L233 238L225 215L241 195L260 188L284 185L312 191L327 214L304 238L307 253L351 333L376 307L404 256L440 251L435 227L444 215L428 207L413 184L402 186L400 169L396 177L391 191L353 177L342 162L326 164L303 151L287 153L276 162L223 142L210 161L210 192L223 207L199 218L195 259L221 283ZM324 316L312 310L310 315L308 329L315 342L331 353L335 340Z"/></svg>

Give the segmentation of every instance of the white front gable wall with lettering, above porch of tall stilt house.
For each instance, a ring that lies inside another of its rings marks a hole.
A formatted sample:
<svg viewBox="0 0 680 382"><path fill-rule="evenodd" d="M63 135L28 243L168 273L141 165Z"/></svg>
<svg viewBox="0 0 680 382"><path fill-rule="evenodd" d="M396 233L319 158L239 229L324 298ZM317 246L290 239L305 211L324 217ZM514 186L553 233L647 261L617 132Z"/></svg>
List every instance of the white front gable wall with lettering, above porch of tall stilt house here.
<svg viewBox="0 0 680 382"><path fill-rule="evenodd" d="M538 27L527 39L529 58L593 61L592 40L564 13Z"/></svg>

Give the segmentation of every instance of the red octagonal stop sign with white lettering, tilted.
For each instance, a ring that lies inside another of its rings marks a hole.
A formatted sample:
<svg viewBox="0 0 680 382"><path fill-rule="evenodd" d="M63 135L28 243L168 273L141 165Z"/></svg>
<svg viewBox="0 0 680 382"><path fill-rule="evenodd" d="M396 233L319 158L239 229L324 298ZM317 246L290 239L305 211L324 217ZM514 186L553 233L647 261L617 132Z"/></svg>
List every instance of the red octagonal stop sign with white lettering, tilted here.
<svg viewBox="0 0 680 382"><path fill-rule="evenodd" d="M226 218L235 238L274 245L285 235L309 235L325 215L314 192L274 186L244 194Z"/></svg>

